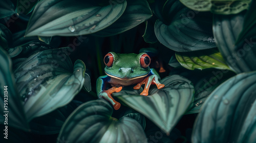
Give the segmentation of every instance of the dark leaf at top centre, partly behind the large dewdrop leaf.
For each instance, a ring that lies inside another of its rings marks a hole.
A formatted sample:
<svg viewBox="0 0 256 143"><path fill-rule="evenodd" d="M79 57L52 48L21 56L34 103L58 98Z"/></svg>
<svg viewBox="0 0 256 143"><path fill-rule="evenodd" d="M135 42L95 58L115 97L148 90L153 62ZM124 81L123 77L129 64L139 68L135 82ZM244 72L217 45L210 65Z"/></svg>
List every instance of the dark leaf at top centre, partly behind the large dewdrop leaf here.
<svg viewBox="0 0 256 143"><path fill-rule="evenodd" d="M120 34L138 26L151 16L152 12L146 0L130 0L127 1L127 6L122 16L117 19L113 25L95 33L94 35L106 37Z"/></svg>

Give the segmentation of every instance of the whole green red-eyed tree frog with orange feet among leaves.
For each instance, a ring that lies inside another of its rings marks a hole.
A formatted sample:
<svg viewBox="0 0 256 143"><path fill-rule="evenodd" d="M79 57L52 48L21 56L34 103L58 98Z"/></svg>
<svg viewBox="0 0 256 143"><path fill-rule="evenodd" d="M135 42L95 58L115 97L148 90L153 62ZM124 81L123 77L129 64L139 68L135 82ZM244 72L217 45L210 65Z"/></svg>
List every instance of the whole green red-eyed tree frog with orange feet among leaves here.
<svg viewBox="0 0 256 143"><path fill-rule="evenodd" d="M110 52L104 57L105 74L97 79L97 95L99 98L108 100L115 110L120 108L120 103L112 97L113 92L121 91L123 86L137 84L134 89L140 89L145 84L142 96L148 95L151 84L156 84L157 88L163 88L159 75L155 69L148 67L151 63L150 56L146 53L140 54L116 54ZM108 89L108 86L109 89Z"/></svg>

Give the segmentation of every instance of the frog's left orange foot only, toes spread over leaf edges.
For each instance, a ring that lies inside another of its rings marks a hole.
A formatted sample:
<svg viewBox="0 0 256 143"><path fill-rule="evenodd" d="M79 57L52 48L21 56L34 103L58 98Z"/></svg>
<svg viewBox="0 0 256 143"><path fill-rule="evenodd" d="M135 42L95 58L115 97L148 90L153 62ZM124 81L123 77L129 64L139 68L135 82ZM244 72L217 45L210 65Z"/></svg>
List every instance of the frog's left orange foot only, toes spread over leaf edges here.
<svg viewBox="0 0 256 143"><path fill-rule="evenodd" d="M119 92L121 90L122 90L122 86L120 86L120 87L112 87L112 88L110 88L108 90L104 90L103 91L103 92L106 92L108 94L108 99L106 99L106 100L108 100L113 105L115 110L118 110L120 108L121 104L113 99L112 93L113 92Z"/></svg>

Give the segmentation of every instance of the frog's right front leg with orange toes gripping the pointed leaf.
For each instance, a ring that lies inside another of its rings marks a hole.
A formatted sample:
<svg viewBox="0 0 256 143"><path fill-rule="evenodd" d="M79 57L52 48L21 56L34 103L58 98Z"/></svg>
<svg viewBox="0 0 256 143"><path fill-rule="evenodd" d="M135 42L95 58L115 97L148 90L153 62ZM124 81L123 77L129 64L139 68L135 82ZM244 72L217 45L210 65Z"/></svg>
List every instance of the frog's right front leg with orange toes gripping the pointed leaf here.
<svg viewBox="0 0 256 143"><path fill-rule="evenodd" d="M154 69L153 69L154 71ZM152 73L152 71L151 71ZM134 86L134 89L140 89L141 85L145 84L144 90L140 93L140 95L147 96L148 90L150 89L150 85L152 82L157 85L158 89L161 89L164 87L164 84L161 84L158 79L160 79L158 74L152 74L151 76L146 77L144 80L142 80L140 83L138 83L136 86Z"/></svg>

